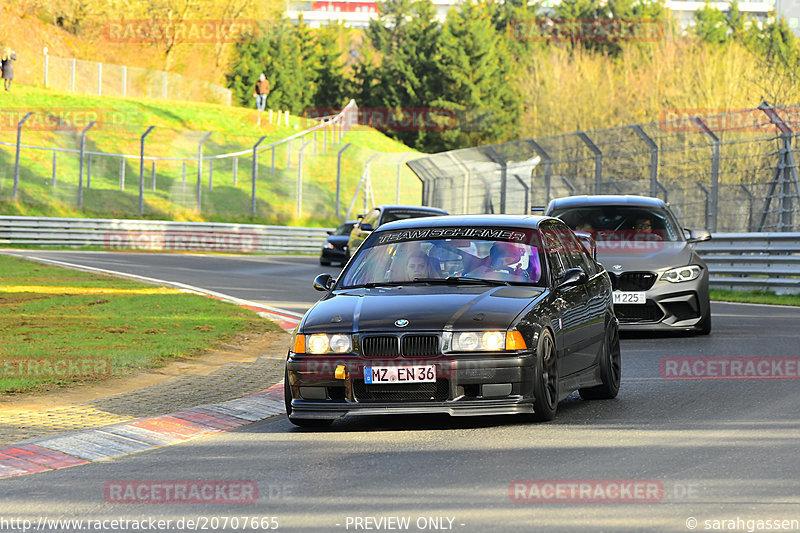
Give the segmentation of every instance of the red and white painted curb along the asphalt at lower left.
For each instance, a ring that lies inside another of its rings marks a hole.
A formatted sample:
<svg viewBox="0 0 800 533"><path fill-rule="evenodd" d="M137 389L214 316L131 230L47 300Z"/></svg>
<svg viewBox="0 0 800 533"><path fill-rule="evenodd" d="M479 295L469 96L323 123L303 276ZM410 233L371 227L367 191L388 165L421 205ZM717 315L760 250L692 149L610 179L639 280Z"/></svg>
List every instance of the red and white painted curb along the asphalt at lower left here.
<svg viewBox="0 0 800 533"><path fill-rule="evenodd" d="M230 431L285 413L283 384L227 402L0 447L0 478L58 470Z"/></svg>

